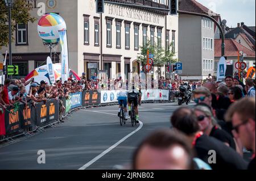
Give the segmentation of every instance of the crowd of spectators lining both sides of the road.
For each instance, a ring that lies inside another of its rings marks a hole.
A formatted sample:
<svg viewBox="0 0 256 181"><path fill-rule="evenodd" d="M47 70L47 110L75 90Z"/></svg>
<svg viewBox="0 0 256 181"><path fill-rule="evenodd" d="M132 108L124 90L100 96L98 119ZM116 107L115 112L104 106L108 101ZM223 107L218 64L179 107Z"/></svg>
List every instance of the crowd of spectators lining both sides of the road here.
<svg viewBox="0 0 256 181"><path fill-rule="evenodd" d="M51 85L33 78L5 79L0 86L0 113L15 104L68 99L70 93L83 90L128 89L128 81L122 77L104 81L96 74L86 79L83 73L80 78L77 81L70 75L68 81ZM177 91L184 82L161 77L152 79L151 85ZM224 81L208 79L189 82L189 86L196 105L178 108L170 119L171 130L156 131L138 146L133 169L255 170L255 80L246 79L244 85L229 75ZM248 152L249 163L243 159Z"/></svg>

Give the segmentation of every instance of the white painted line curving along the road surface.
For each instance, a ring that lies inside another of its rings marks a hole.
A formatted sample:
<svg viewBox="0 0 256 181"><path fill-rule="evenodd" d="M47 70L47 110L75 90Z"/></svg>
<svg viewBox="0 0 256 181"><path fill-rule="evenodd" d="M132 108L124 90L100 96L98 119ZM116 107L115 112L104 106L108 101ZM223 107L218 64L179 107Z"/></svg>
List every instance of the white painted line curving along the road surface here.
<svg viewBox="0 0 256 181"><path fill-rule="evenodd" d="M83 111L87 111L87 110L83 110ZM90 112L98 112L98 111L90 111ZM106 113L106 112L98 112L98 113ZM115 115L113 113L106 113L109 115ZM116 116L116 115L115 115ZM139 127L137 129L135 129L133 132L131 132L130 134L128 134L127 136L123 137L121 140L119 140L118 142L116 142L114 145L110 146L108 149L106 149L105 151L103 151L101 154L97 155L97 157L93 158L91 161L89 161L88 163L86 163L84 166L82 166L80 169L78 170L85 170L87 167L89 167L90 165L92 165L94 162L96 162L98 159L100 159L101 157L103 157L105 154L109 153L109 151L113 150L115 147L117 147L119 144L121 144L123 141L125 141L127 138L129 138L130 136L132 136L134 133L138 132L141 128L143 127L143 123L141 121L139 121Z"/></svg>

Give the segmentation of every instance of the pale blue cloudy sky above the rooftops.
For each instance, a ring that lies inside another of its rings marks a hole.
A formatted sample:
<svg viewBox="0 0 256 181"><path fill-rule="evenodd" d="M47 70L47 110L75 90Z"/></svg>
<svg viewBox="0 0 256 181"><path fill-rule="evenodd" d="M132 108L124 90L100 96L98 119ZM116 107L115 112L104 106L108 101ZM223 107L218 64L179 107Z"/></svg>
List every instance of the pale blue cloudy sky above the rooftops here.
<svg viewBox="0 0 256 181"><path fill-rule="evenodd" d="M255 0L196 0L227 20L227 26L237 27L245 22L246 26L255 26Z"/></svg>

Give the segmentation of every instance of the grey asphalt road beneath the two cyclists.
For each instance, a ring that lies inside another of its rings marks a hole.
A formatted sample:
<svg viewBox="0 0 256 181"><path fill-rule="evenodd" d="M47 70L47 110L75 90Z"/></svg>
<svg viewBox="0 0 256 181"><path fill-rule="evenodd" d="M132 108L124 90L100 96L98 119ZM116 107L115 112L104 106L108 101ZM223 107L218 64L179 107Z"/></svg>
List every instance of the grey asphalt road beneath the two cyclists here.
<svg viewBox="0 0 256 181"><path fill-rule="evenodd" d="M0 148L0 170L127 166L143 138L155 129L170 128L170 116L176 108L177 103L142 104L137 127L131 127L130 119L121 127L117 106L75 111L56 128ZM38 150L45 151L45 164L38 163Z"/></svg>

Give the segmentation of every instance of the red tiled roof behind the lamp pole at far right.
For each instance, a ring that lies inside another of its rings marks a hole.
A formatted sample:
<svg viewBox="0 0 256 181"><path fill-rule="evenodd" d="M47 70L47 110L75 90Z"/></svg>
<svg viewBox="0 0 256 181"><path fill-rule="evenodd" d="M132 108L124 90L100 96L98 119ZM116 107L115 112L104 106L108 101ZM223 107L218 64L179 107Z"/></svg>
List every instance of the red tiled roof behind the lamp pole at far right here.
<svg viewBox="0 0 256 181"><path fill-rule="evenodd" d="M244 47L233 39L225 39L225 56L237 57L237 52L243 51L247 57L255 58L255 52ZM221 39L214 40L214 57L221 57Z"/></svg>

